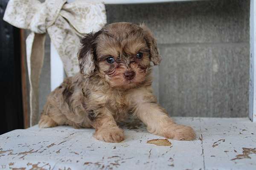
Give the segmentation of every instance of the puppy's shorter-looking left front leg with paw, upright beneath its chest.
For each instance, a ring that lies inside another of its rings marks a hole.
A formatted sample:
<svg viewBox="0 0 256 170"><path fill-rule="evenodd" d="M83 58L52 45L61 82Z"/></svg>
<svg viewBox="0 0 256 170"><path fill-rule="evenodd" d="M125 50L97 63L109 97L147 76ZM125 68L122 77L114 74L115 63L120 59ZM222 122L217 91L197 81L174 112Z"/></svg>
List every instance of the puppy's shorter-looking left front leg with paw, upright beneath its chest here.
<svg viewBox="0 0 256 170"><path fill-rule="evenodd" d="M124 140L124 131L116 125L112 114L107 109L102 109L96 119L92 121L95 128L94 137L105 142L121 142Z"/></svg>

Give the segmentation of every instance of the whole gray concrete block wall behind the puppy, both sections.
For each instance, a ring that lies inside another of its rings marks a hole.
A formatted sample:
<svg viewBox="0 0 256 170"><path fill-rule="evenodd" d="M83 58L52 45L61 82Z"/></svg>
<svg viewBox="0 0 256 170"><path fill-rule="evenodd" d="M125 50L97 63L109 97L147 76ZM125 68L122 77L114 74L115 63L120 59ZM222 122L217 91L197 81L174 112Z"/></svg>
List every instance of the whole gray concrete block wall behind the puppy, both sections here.
<svg viewBox="0 0 256 170"><path fill-rule="evenodd" d="M249 0L106 5L108 23L144 22L163 62L154 91L172 116L248 115ZM40 109L50 92L49 40Z"/></svg>

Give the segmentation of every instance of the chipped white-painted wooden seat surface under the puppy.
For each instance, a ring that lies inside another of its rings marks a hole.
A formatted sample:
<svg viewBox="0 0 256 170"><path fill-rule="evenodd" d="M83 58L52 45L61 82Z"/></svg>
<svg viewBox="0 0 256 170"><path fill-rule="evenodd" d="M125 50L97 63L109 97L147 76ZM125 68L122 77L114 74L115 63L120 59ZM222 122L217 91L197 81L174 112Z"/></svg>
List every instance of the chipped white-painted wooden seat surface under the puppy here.
<svg viewBox="0 0 256 170"><path fill-rule="evenodd" d="M248 154L250 158L235 159L243 154L243 147L256 148L256 124L249 119L176 117L175 120L191 125L197 133L196 140L169 140L172 147L148 144L148 140L164 138L148 133L140 123L122 125L125 141L121 143L98 141L93 138L93 129L34 126L14 130L0 136L0 169L29 170L33 166L46 170L256 169L256 153Z"/></svg>

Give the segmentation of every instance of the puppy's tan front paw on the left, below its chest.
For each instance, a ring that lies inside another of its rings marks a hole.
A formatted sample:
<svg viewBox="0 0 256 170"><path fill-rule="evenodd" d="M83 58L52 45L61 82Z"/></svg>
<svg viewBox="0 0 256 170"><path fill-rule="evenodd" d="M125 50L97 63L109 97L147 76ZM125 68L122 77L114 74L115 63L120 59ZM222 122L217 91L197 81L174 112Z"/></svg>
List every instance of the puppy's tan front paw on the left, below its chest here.
<svg viewBox="0 0 256 170"><path fill-rule="evenodd" d="M119 127L99 129L94 134L94 137L98 140L109 143L118 143L125 139L124 130L120 129Z"/></svg>

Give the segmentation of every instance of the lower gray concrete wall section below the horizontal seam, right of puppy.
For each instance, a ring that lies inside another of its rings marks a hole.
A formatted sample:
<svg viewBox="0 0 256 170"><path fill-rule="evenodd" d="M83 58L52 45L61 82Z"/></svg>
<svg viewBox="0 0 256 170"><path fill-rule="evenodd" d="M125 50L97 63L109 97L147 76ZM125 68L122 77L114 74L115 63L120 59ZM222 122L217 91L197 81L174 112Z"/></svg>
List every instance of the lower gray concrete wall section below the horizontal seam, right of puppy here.
<svg viewBox="0 0 256 170"><path fill-rule="evenodd" d="M247 43L161 46L160 104L172 116L247 116L248 49Z"/></svg>

